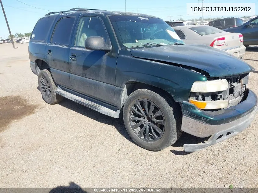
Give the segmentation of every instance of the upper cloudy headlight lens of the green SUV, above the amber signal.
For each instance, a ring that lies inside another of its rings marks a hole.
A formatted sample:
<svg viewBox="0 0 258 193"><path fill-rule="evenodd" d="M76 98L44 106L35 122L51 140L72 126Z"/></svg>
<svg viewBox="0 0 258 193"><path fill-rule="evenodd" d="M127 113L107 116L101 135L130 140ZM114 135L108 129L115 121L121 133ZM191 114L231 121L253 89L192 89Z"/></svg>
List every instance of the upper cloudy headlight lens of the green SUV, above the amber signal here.
<svg viewBox="0 0 258 193"><path fill-rule="evenodd" d="M226 79L196 81L194 82L191 92L217 92L225 91L228 88Z"/></svg>

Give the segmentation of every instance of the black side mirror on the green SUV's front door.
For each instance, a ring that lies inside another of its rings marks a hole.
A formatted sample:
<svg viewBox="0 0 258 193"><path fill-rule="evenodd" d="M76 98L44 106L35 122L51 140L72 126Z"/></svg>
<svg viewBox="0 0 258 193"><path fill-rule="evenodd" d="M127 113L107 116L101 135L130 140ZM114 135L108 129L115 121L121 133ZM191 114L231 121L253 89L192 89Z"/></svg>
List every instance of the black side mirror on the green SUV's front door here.
<svg viewBox="0 0 258 193"><path fill-rule="evenodd" d="M89 50L111 51L110 45L105 44L105 40L100 36L91 36L85 40L85 48Z"/></svg>

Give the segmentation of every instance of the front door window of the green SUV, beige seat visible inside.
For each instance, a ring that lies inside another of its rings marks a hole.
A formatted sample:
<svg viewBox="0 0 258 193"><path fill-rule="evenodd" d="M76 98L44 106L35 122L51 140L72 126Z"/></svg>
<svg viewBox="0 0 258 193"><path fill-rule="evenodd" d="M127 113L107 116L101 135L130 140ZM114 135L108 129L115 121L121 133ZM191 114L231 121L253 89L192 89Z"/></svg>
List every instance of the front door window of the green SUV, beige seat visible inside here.
<svg viewBox="0 0 258 193"><path fill-rule="evenodd" d="M82 17L77 29L74 45L84 47L85 40L91 36L101 36L107 43L107 32L100 18Z"/></svg>

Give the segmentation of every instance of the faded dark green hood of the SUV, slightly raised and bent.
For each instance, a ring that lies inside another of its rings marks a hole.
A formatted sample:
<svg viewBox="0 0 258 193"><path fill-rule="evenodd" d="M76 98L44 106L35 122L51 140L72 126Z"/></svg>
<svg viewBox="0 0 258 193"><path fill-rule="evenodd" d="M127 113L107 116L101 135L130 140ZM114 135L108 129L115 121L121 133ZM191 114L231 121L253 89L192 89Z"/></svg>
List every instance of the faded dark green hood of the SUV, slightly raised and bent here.
<svg viewBox="0 0 258 193"><path fill-rule="evenodd" d="M232 76L254 70L243 60L204 44L132 49L131 54L136 58L194 67L209 73L210 77Z"/></svg>

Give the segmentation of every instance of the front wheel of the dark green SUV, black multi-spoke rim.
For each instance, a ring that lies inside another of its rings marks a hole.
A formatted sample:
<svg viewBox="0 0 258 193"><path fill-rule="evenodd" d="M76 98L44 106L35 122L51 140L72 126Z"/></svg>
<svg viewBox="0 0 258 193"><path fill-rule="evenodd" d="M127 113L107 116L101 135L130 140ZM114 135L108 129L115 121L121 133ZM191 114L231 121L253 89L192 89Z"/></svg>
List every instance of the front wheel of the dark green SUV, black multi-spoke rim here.
<svg viewBox="0 0 258 193"><path fill-rule="evenodd" d="M155 107L151 108L153 105ZM142 116L143 113L145 113L144 116ZM125 128L133 141L151 151L160 151L169 147L182 134L182 112L179 103L174 102L173 98L159 95L149 89L139 89L129 95L123 108L123 119ZM147 131L149 131L148 135Z"/></svg>

